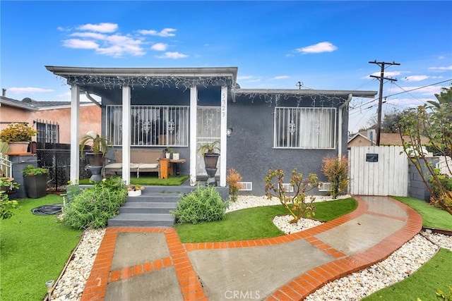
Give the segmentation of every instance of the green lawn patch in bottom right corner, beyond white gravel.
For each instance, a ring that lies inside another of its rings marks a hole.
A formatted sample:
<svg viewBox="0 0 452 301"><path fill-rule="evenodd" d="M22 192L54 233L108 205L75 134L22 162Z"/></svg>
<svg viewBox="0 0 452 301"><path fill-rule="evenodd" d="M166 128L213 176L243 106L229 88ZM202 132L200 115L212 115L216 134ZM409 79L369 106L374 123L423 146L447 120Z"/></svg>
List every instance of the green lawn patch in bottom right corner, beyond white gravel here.
<svg viewBox="0 0 452 301"><path fill-rule="evenodd" d="M383 288L363 300L415 301L417 298L422 301L437 300L436 290L440 289L448 295L450 285L452 285L452 252L441 249L410 277Z"/></svg>

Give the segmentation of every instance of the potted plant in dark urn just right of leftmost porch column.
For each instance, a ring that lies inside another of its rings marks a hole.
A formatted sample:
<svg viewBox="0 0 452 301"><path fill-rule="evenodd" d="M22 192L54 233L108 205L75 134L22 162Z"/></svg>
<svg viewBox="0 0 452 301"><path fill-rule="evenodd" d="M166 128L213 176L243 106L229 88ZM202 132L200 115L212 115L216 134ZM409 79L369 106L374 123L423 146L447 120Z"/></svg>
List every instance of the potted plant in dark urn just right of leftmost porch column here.
<svg viewBox="0 0 452 301"><path fill-rule="evenodd" d="M90 130L80 140L80 153L83 158L83 150L90 145L91 152L87 152L88 164L90 166L102 166L105 154L107 154L112 143L106 137L101 137L94 130Z"/></svg>

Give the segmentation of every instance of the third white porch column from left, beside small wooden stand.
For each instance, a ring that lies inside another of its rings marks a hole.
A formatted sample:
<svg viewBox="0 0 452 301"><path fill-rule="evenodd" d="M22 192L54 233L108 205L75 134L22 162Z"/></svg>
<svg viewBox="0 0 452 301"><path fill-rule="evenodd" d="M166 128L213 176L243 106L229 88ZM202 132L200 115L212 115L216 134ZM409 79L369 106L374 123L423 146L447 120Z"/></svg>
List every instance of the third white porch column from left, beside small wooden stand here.
<svg viewBox="0 0 452 301"><path fill-rule="evenodd" d="M196 185L196 133L198 125L198 90L190 87L190 186Z"/></svg>

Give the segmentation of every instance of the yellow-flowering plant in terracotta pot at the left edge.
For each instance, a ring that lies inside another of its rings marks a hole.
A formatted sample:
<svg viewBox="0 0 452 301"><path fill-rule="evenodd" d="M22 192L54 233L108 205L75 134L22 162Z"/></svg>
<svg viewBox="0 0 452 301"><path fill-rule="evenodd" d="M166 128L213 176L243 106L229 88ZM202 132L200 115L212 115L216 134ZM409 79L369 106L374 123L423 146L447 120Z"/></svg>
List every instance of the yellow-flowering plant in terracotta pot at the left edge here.
<svg viewBox="0 0 452 301"><path fill-rule="evenodd" d="M37 130L30 128L25 123L10 123L0 132L0 140L8 142L9 152L27 152L31 137L37 134Z"/></svg>

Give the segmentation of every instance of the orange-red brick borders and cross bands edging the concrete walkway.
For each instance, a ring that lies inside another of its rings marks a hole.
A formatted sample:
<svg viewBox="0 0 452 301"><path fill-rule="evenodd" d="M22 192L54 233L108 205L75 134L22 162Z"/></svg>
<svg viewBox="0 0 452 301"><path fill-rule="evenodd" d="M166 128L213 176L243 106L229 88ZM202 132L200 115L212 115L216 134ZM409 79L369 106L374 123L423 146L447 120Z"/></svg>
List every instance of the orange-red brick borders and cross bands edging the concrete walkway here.
<svg viewBox="0 0 452 301"><path fill-rule="evenodd" d="M295 240L306 240L319 250L335 258L333 262L317 266L314 269L294 278L292 281L283 285L273 292L267 300L303 300L307 295L321 288L328 282L335 279L355 273L365 269L376 262L386 259L394 251L398 250L405 242L419 233L422 229L422 218L410 207L397 202L388 197L388 200L398 204L405 209L408 214L407 219L397 216L388 216L386 214L376 214L368 211L367 203L359 196L357 199L358 207L355 211L338 219L323 223L306 231L292 233L289 235L278 236L276 238L263 238L258 240L239 240L230 242L200 242L185 243L179 240L174 228L140 228L140 227L111 227L107 228L104 238L100 245L97 257L95 259L90 277L83 290L82 301L103 300L107 290L108 283L119 281L124 278L133 277L143 273L152 273L157 269L163 269L166 266L174 266L179 287L184 296L184 300L208 300L206 293L198 279L196 272L191 265L187 252L193 250L213 250L239 247L261 247L268 245L278 245ZM400 231L381 240L374 247L369 248L359 254L347 257L346 254L335 250L335 248L319 240L315 235L335 228L347 221L356 219L358 216L367 214L376 214L405 221L405 226ZM145 233L165 233L170 257L157 259L153 262L144 262L136 266L130 266L124 269L111 271L114 254L114 246L117 241L117 234L121 232L145 232Z"/></svg>

